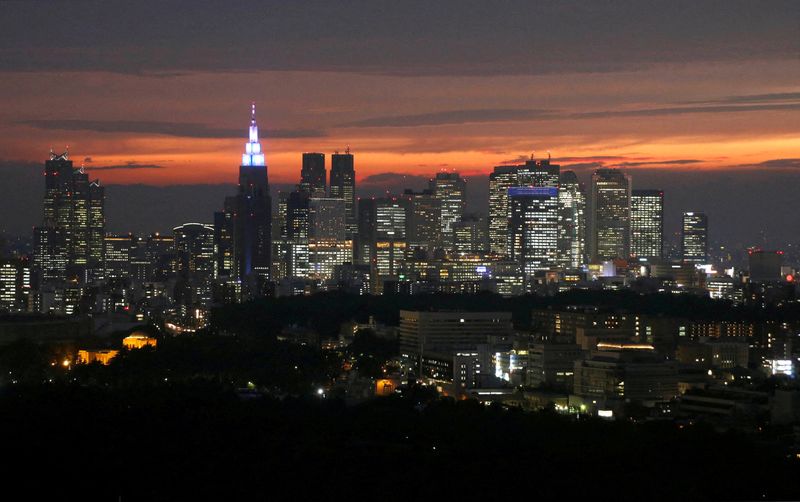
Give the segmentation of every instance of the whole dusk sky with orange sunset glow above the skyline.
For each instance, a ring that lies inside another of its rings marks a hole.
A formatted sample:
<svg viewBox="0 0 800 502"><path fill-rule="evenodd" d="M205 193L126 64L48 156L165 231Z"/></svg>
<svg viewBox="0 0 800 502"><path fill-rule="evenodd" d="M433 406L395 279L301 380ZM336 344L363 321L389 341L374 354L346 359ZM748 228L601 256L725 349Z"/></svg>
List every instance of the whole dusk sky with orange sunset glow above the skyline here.
<svg viewBox="0 0 800 502"><path fill-rule="evenodd" d="M40 218L69 145L111 230L210 221L251 101L270 178L350 145L365 193L439 170L486 206L494 165L626 169L668 223L795 241L800 2L0 0L0 228ZM416 185L415 185L416 184Z"/></svg>

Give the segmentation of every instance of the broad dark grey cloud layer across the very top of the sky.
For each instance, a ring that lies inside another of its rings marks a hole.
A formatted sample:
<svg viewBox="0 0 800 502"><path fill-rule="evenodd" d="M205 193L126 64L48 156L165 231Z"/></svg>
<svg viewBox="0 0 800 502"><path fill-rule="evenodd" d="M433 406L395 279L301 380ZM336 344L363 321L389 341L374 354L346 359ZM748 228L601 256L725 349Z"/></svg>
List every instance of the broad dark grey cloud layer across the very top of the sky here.
<svg viewBox="0 0 800 502"><path fill-rule="evenodd" d="M793 0L2 5L0 70L156 76L259 70L538 75L654 63L795 61L800 15Z"/></svg>

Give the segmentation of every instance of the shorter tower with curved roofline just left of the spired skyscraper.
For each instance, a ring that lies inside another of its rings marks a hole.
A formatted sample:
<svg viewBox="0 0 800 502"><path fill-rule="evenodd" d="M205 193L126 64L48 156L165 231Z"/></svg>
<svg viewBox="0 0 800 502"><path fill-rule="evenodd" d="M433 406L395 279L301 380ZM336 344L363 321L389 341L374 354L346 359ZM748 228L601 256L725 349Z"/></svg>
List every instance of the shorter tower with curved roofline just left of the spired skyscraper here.
<svg viewBox="0 0 800 502"><path fill-rule="evenodd" d="M208 306L217 278L214 226L185 223L172 230L178 282L175 301L184 307Z"/></svg>

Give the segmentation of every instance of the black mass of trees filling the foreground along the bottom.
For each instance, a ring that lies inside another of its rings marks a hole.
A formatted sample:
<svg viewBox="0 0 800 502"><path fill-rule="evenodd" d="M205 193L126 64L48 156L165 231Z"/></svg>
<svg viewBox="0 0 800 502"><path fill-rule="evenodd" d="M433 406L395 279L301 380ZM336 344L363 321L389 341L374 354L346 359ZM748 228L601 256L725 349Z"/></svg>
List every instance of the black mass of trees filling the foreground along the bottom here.
<svg viewBox="0 0 800 502"><path fill-rule="evenodd" d="M703 426L474 401L242 400L210 382L6 387L7 490L105 500L797 499L798 463ZM38 473L41 482L30 483Z"/></svg>

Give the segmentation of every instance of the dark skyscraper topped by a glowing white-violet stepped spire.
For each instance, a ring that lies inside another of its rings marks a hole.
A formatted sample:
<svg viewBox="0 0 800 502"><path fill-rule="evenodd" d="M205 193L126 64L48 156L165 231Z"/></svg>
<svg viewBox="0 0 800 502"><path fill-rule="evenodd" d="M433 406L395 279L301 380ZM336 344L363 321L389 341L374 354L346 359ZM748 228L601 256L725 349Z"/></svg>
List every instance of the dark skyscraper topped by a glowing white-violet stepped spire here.
<svg viewBox="0 0 800 502"><path fill-rule="evenodd" d="M250 112L250 135L239 167L239 193L233 206L234 265L237 277L250 282L252 293L262 294L269 280L272 253L272 200L267 165L258 141L256 105Z"/></svg>

